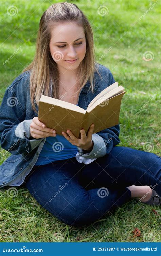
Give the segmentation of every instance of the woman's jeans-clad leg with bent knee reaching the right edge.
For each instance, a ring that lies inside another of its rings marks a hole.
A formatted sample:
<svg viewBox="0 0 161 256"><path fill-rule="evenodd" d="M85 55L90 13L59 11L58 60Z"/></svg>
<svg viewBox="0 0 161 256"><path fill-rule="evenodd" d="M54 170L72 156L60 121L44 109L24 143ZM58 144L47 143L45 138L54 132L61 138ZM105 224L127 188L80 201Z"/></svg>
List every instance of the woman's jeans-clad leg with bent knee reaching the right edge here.
<svg viewBox="0 0 161 256"><path fill-rule="evenodd" d="M83 166L80 184L85 188L111 189L147 185L161 195L161 158L154 153L115 146L109 154Z"/></svg>

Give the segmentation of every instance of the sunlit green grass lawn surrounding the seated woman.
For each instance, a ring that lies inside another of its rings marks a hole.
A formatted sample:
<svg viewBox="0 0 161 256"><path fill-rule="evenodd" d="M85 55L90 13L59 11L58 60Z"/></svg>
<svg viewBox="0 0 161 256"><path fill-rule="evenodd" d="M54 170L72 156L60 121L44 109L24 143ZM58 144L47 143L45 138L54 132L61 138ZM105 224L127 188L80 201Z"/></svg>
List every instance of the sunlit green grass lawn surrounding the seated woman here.
<svg viewBox="0 0 161 256"><path fill-rule="evenodd" d="M1 0L0 101L5 89L33 59L40 17L52 3ZM108 67L114 79L127 90L120 111L119 146L143 150L150 142L153 153L161 156L159 1L153 7L155 1L111 0L106 3L109 13L105 16L97 13L99 6L105 5L103 0L72 3L76 3L91 22L96 60ZM17 7L17 15L7 14L11 5ZM4 66L3 62L20 47ZM147 51L153 60L146 61ZM0 164L10 155L0 149ZM95 224L75 228L43 209L28 190L17 187L17 196L10 198L8 188L0 189L0 242L53 242L55 233L60 233L63 242L159 242L161 218L153 211L160 213L158 207L143 206L132 200ZM134 236L135 228L141 231L140 236Z"/></svg>

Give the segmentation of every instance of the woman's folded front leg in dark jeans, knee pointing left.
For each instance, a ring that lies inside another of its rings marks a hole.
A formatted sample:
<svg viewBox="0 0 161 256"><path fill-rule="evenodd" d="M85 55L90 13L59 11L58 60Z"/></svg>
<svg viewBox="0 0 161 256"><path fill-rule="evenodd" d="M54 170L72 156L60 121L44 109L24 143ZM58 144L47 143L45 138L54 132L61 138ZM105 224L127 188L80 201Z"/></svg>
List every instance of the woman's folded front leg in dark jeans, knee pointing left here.
<svg viewBox="0 0 161 256"><path fill-rule="evenodd" d="M112 207L130 200L128 188L108 189L106 197L98 196L98 188L86 190L79 184L81 172L82 164L74 157L35 166L24 183L44 208L62 222L76 227L93 223Z"/></svg>

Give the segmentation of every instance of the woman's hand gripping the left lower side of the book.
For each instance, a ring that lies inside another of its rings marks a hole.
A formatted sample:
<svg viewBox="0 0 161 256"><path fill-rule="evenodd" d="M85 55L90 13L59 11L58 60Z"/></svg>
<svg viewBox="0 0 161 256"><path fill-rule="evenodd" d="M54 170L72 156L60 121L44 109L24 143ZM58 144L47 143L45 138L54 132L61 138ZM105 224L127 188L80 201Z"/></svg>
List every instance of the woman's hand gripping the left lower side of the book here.
<svg viewBox="0 0 161 256"><path fill-rule="evenodd" d="M45 125L39 121L38 117L35 116L30 124L30 137L40 139L48 136L56 136L56 131L53 133L53 129L45 127Z"/></svg>

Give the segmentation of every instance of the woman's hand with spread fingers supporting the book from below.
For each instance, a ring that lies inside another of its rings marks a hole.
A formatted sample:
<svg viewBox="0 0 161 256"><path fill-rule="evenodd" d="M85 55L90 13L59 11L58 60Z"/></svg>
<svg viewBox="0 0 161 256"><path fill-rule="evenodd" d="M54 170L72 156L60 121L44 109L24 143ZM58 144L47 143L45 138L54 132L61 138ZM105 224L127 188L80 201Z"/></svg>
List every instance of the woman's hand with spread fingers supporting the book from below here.
<svg viewBox="0 0 161 256"><path fill-rule="evenodd" d="M86 136L85 130L81 129L81 139L77 139L70 130L67 130L68 135L62 132L62 135L72 144L83 150L91 151L93 148L92 134L94 131L94 124L91 124L88 134Z"/></svg>

